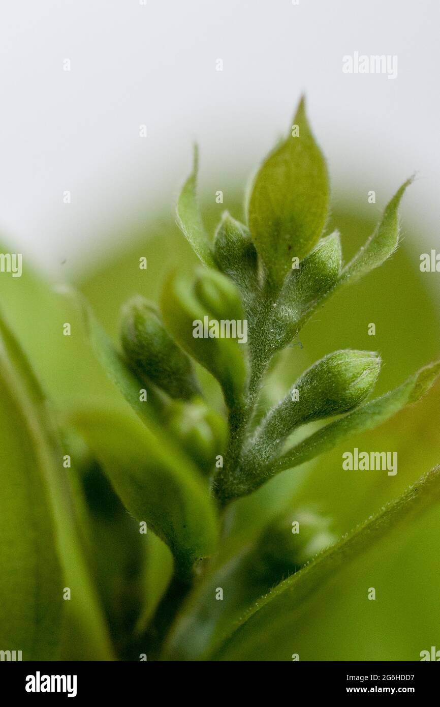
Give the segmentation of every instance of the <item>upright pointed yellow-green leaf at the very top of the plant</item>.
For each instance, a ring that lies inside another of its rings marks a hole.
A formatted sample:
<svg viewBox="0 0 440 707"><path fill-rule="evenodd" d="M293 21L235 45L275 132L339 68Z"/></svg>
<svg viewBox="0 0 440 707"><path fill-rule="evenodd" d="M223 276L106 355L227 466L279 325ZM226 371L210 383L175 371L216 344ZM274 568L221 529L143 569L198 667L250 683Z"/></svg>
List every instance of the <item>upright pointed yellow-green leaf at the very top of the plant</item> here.
<svg viewBox="0 0 440 707"><path fill-rule="evenodd" d="M275 287L317 243L328 214L326 162L307 122L304 98L292 129L270 153L254 180L249 230Z"/></svg>

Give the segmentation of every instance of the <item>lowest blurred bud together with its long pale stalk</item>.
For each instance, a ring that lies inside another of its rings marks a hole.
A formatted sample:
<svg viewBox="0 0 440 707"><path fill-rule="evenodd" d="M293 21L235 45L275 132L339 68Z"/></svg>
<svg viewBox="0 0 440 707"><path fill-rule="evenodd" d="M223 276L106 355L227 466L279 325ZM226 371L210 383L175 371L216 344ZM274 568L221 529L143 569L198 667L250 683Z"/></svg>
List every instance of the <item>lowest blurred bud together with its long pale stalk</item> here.
<svg viewBox="0 0 440 707"><path fill-rule="evenodd" d="M232 558L212 564L182 607L165 645L167 660L203 660L243 612L287 575L298 571L321 549L337 541L329 519L290 503L276 521L267 522ZM292 520L301 525L292 533ZM222 600L213 601L218 588Z"/></svg>

